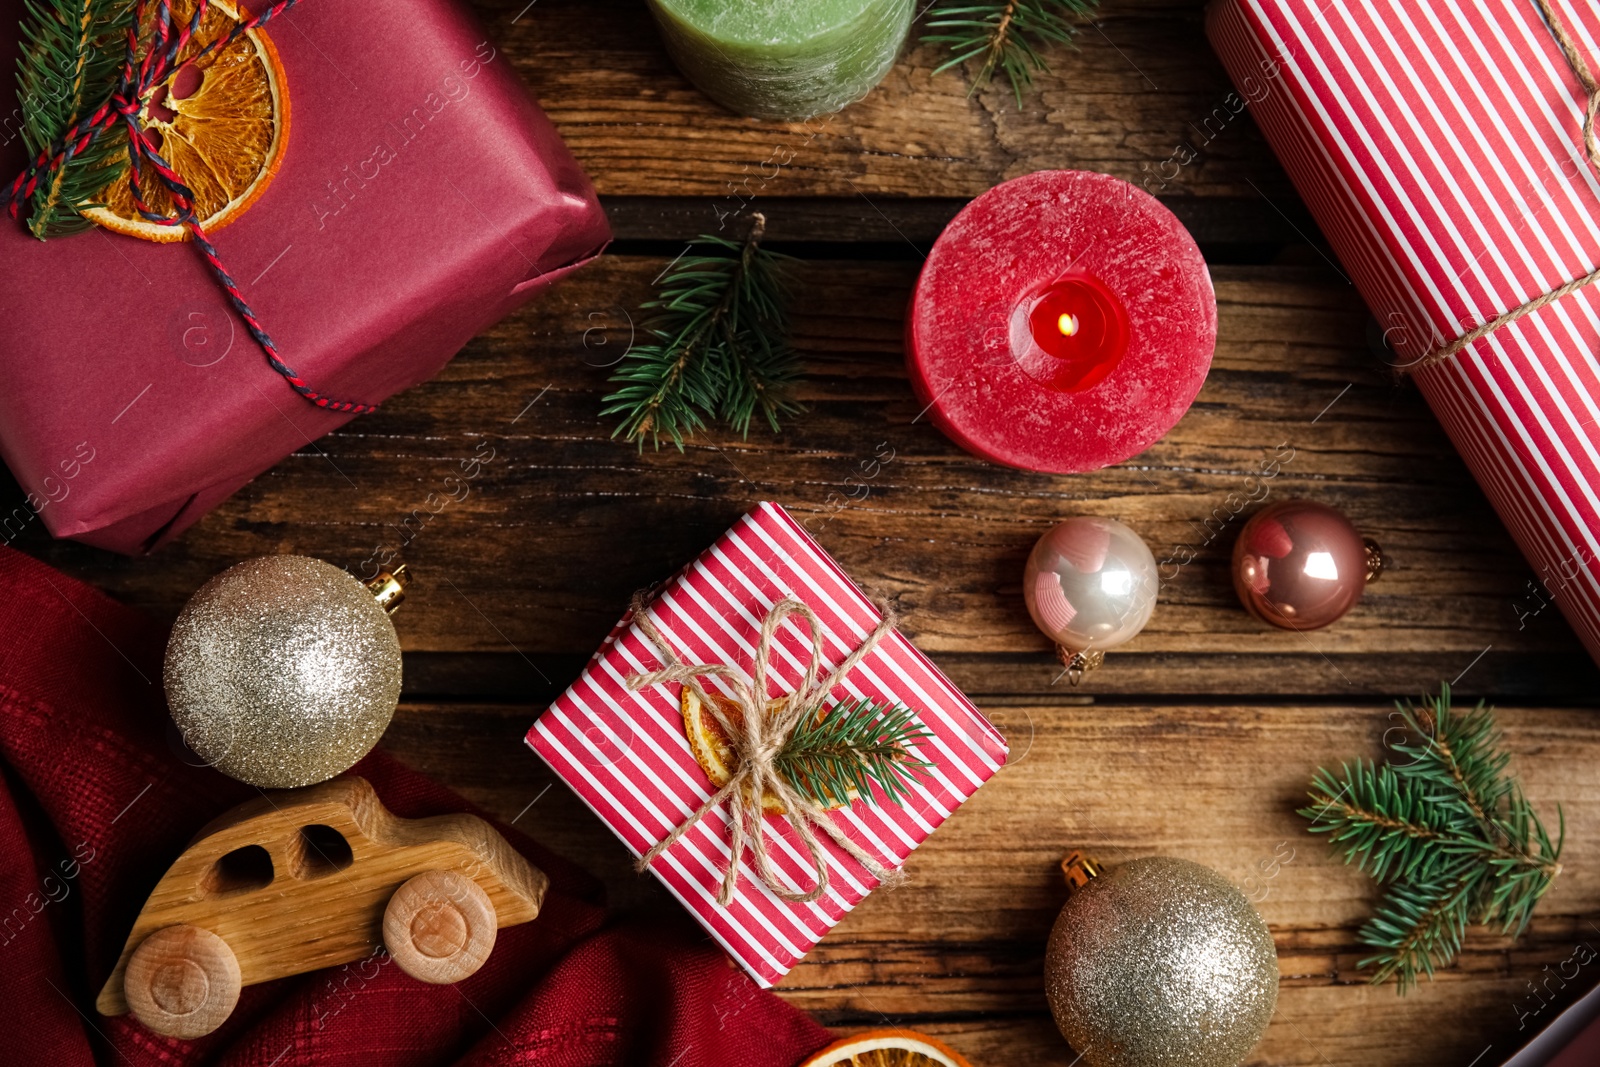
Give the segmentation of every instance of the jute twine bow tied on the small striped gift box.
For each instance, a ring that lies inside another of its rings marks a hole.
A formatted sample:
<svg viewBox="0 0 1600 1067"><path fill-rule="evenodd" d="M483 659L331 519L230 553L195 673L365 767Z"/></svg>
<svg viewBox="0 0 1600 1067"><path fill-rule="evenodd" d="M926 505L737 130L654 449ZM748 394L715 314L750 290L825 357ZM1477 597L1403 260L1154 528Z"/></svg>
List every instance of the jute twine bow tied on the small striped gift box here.
<svg viewBox="0 0 1600 1067"><path fill-rule="evenodd" d="M776 705L766 696L768 662L773 653L773 637L778 627L789 616L797 616L806 624L811 635L811 659L806 664L805 680L800 686L781 697ZM709 710L728 737L733 750L734 769L728 784L710 795L685 822L678 824L667 837L651 848L638 861L638 870L648 869L656 859L672 848L678 838L694 829L718 805L728 805L728 867L723 872L722 889L717 893L717 904L726 907L733 901L733 889L739 880L739 862L746 853L754 861L755 873L762 885L771 889L773 896L794 904L810 904L827 891L827 854L818 841L821 830L830 841L838 845L851 859L866 869L878 881L893 881L899 872L885 867L866 849L845 837L827 809L811 797L795 790L774 768L774 760L784 742L794 734L805 715L816 715L840 680L856 669L867 653L870 653L883 635L894 629L894 616L888 608L878 625L867 633L866 640L826 678L818 678L822 665L822 624L816 614L798 600L784 598L773 605L762 621L762 637L755 648L755 661L749 673L733 664L685 664L672 649L672 645L645 611L643 595L634 598L634 622L640 632L656 646L656 653L664 664L659 670L632 675L627 678L629 689L662 681L678 681L688 686L699 697L701 707ZM701 678L722 678L733 689L734 713L726 713L723 707L710 697L701 685ZM763 797L771 795L784 808L784 817L794 827L800 845L805 848L806 861L811 864L814 885L805 893L789 889L773 861L768 856L768 838L763 829Z"/></svg>

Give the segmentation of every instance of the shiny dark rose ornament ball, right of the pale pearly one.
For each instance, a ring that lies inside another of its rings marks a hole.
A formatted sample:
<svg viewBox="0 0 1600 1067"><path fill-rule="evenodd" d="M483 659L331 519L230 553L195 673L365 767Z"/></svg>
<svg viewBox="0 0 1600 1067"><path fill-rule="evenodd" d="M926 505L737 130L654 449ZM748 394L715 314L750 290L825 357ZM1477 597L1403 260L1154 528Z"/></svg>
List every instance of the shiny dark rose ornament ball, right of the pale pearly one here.
<svg viewBox="0 0 1600 1067"><path fill-rule="evenodd" d="M1382 566L1374 541L1312 501L1261 509L1234 544L1238 598L1253 616L1285 630L1317 630L1344 617Z"/></svg>

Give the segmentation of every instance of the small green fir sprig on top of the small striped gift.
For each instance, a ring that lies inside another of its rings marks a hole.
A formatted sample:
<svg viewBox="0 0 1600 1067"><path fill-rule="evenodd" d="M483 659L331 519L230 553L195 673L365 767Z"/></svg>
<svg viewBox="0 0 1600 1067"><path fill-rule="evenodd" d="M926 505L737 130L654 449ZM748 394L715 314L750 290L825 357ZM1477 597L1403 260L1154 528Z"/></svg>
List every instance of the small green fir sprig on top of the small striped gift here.
<svg viewBox="0 0 1600 1067"><path fill-rule="evenodd" d="M904 704L842 701L805 715L773 766L792 789L824 808L848 805L851 795L875 803L874 787L898 803L910 795L917 771L933 766L909 747L928 736Z"/></svg>

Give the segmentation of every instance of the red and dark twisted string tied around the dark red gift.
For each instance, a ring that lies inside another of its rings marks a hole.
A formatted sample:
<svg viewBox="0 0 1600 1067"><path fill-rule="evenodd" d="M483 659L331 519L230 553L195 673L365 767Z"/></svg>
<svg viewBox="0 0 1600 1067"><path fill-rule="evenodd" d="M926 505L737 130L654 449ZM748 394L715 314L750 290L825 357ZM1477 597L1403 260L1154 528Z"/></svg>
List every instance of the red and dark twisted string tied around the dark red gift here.
<svg viewBox="0 0 1600 1067"><path fill-rule="evenodd" d="M245 294L240 291L238 283L234 282L234 275L230 275L227 267L222 266L221 253L218 253L211 238L206 237L206 232L200 224L200 218L195 214L194 190L186 184L182 174L179 174L173 165L162 157L157 139L144 126L144 115L149 107L149 101L160 86L166 85L166 80L173 77L179 67L198 66L216 53L226 51L243 34L259 26L266 26L278 14L293 8L296 3L299 3L299 0L278 0L272 6L261 11L261 14L254 14L237 22L226 37L218 37L179 62L179 54L189 46L195 34L200 32L200 24L205 21L211 0L195 0L194 13L189 16L187 22L176 16L171 0L155 0L154 10L150 6L150 0L138 0L133 10L133 22L128 26L128 40L122 69L117 74L117 83L112 86L110 94L90 115L72 123L72 126L64 130L59 138L45 146L45 149L38 152L32 162L29 162L29 165L10 186L0 189L0 206L3 206L13 219L21 218L22 205L27 203L40 184L50 186L58 182L62 168L70 163L74 157L88 150L94 142L109 134L118 125L125 126L128 131L128 187L133 190L133 203L138 208L139 216L158 226L181 226L189 230L202 259L205 259L206 266L211 267L211 275L216 278L218 285L222 286L229 302L234 306L234 312L245 323L245 328L250 331L250 336L254 338L256 344L261 346L262 354L267 357L267 365L290 384L290 389L318 408L326 408L328 411L346 411L350 414L366 414L368 411L376 411L378 405L360 403L355 400L334 400L326 394L317 392L304 378L296 374L294 370L278 357L277 346L256 318L256 312L253 312L250 304L245 302ZM141 27L149 30L149 40L139 40ZM155 174L155 179L166 189L166 194L173 202L173 214L160 214L158 211L150 210L141 186L142 166L149 166L150 173Z"/></svg>

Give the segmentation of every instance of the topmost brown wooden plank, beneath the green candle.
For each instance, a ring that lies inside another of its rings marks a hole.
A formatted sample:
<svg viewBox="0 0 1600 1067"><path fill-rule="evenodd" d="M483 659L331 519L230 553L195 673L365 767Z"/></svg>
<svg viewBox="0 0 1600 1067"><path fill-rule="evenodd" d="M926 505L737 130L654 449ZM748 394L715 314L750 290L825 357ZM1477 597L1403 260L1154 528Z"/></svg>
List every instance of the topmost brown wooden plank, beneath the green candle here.
<svg viewBox="0 0 1600 1067"><path fill-rule="evenodd" d="M1022 107L1002 86L971 94L971 70L934 75L946 53L915 43L918 24L883 85L806 123L741 118L701 96L637 0L475 6L603 194L720 197L728 208L766 195L974 197L1027 171L1077 168L1152 192L1293 202L1194 0L1109 0L1077 48L1050 51L1053 72Z"/></svg>

